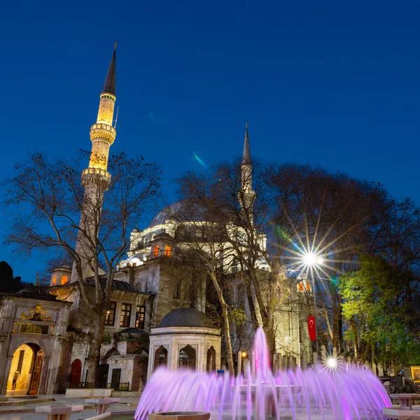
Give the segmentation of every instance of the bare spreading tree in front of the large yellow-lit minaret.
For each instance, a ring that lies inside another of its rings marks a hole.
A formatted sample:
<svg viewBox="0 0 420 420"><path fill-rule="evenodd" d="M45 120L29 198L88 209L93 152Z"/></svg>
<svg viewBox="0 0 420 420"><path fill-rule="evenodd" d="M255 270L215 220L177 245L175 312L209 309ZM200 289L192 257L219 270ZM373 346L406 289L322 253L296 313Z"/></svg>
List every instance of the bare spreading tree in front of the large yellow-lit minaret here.
<svg viewBox="0 0 420 420"><path fill-rule="evenodd" d="M158 197L160 169L143 158L113 155L111 180L109 176L104 179L104 171L90 169L90 185L105 183L90 194L80 184L80 157L48 158L32 153L27 161L15 165L15 171L4 183L4 204L11 214L6 243L15 245L20 253L61 250L73 261L90 316L88 381L94 382L116 267L129 248L130 228Z"/></svg>

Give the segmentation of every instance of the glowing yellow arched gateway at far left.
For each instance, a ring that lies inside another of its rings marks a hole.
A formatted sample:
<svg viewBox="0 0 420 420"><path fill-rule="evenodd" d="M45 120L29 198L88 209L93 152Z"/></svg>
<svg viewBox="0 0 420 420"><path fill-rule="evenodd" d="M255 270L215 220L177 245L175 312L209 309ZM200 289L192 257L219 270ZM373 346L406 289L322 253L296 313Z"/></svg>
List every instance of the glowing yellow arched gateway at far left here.
<svg viewBox="0 0 420 420"><path fill-rule="evenodd" d="M38 344L22 344L13 353L7 391L36 395L41 381L43 350Z"/></svg>

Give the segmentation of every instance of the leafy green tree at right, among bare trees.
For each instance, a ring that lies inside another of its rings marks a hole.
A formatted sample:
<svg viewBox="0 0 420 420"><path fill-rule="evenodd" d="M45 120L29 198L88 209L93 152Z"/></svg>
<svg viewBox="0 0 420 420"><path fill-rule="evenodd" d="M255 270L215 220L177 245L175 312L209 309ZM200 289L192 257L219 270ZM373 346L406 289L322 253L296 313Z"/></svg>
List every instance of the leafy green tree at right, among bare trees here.
<svg viewBox="0 0 420 420"><path fill-rule="evenodd" d="M361 255L360 269L340 280L346 337L364 362L418 363L420 342L409 328L412 311L405 307L405 278L378 255Z"/></svg>

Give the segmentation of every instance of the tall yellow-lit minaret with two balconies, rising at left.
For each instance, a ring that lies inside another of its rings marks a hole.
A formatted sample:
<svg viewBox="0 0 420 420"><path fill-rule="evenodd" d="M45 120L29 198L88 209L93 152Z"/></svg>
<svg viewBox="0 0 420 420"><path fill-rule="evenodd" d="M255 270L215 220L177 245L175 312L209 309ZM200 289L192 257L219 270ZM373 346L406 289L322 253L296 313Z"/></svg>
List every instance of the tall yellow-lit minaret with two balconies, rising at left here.
<svg viewBox="0 0 420 420"><path fill-rule="evenodd" d="M83 279L93 275L90 261L94 256L92 241L98 235L97 228L101 216L102 198L111 183L108 167L109 148L116 139L116 129L112 126L113 113L116 104L116 50L114 45L111 63L102 93L99 95L99 111L97 122L90 127L92 152L89 167L82 172L82 185L85 188L83 208L80 215L79 232L76 242L76 253L82 256ZM99 204L99 205L98 205ZM73 263L71 281L77 281L78 274Z"/></svg>

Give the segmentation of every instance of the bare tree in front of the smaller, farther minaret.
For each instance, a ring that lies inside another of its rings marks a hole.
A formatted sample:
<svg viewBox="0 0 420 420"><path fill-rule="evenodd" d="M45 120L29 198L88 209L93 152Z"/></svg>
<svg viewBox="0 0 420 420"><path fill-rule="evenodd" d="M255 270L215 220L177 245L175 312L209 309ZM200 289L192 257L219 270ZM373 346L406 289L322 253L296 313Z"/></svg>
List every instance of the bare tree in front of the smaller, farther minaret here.
<svg viewBox="0 0 420 420"><path fill-rule="evenodd" d="M284 270L280 251L269 254L265 224L269 207L265 202L267 186L262 176L263 165L254 164L255 192L244 185L252 184L238 163L223 163L204 175L189 172L177 181L181 195L207 213L218 227L219 242L230 264L235 258L244 273L246 298L254 329L264 328L270 347L274 349L275 311L286 297ZM211 216L210 216L211 215Z"/></svg>

